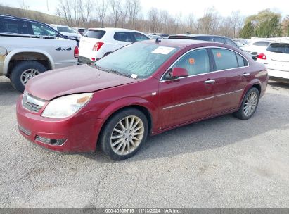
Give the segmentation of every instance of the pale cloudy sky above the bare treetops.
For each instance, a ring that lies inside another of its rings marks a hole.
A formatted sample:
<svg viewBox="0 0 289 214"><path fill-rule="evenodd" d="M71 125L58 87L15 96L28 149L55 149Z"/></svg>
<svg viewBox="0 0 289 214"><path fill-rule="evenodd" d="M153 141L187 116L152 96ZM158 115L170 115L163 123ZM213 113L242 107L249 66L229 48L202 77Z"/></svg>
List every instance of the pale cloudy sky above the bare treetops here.
<svg viewBox="0 0 289 214"><path fill-rule="evenodd" d="M24 0L25 4L29 6L31 10L48 13L46 7L46 0ZM92 0L94 1L94 0ZM108 1L108 0L107 0ZM202 17L205 8L214 6L221 16L228 16L232 11L240 11L241 15L253 15L258 11L262 11L266 8L270 8L274 12L281 13L283 17L289 15L289 7L285 6L284 0L140 0L142 13L146 13L151 7L160 8L162 10L169 11L170 14L176 15L181 13L186 16L189 13L193 13L195 18ZM0 4L5 6L20 7L23 0L0 0ZM49 11L55 14L58 0L49 0Z"/></svg>

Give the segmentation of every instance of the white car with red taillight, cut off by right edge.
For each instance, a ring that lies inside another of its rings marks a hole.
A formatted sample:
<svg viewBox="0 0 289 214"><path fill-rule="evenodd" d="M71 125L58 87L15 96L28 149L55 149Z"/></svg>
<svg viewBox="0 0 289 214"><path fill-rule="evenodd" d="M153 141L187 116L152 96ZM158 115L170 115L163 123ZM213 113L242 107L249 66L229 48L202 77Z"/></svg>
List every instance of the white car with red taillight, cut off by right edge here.
<svg viewBox="0 0 289 214"><path fill-rule="evenodd" d="M259 53L257 61L264 63L269 79L289 82L289 41L271 42L265 51Z"/></svg>

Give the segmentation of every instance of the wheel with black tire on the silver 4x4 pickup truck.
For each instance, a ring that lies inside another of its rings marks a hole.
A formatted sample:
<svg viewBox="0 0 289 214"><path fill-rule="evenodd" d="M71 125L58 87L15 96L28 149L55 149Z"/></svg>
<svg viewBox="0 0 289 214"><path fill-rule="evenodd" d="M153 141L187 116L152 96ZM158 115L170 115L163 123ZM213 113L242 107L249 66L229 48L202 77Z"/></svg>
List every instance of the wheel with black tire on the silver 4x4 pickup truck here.
<svg viewBox="0 0 289 214"><path fill-rule="evenodd" d="M23 92L28 80L46 70L47 68L37 61L21 61L11 70L10 80L15 89Z"/></svg>

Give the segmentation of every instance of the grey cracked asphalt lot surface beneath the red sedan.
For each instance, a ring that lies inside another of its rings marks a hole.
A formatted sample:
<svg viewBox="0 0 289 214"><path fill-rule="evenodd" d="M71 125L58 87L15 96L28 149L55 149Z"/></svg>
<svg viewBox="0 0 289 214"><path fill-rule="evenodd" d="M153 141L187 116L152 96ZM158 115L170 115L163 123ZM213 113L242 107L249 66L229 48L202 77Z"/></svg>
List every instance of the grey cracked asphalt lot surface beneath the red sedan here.
<svg viewBox="0 0 289 214"><path fill-rule="evenodd" d="M269 82L250 120L231 115L150 137L136 156L63 154L19 133L0 77L1 208L288 208L289 85Z"/></svg>

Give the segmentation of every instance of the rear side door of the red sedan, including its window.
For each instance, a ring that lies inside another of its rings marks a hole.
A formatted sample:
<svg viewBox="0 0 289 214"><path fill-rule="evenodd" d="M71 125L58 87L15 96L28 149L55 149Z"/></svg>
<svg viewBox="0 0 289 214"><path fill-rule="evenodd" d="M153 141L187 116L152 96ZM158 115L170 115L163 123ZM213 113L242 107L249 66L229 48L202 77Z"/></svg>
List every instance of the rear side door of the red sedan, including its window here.
<svg viewBox="0 0 289 214"><path fill-rule="evenodd" d="M210 53L214 60L214 115L238 108L251 75L246 70L248 61L240 54L222 48L212 48Z"/></svg>

